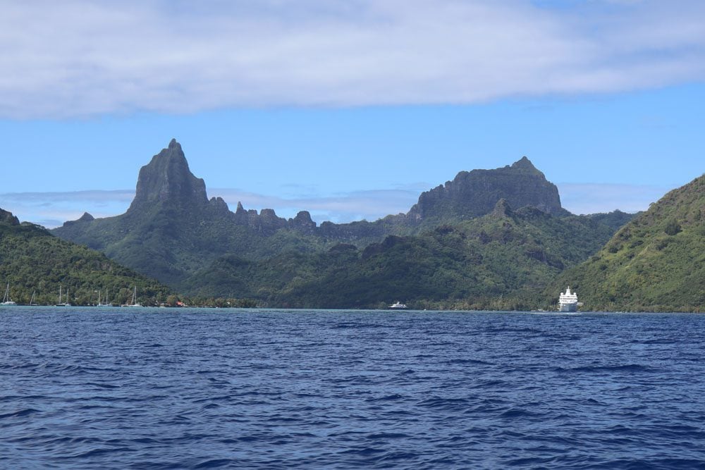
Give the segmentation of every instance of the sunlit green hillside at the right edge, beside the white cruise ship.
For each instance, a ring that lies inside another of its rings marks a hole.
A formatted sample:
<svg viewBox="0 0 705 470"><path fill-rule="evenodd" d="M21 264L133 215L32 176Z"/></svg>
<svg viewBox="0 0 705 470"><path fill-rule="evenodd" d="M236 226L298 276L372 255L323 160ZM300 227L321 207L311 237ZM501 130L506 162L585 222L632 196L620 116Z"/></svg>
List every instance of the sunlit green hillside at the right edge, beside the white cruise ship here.
<svg viewBox="0 0 705 470"><path fill-rule="evenodd" d="M546 295L565 285L584 309L704 311L705 175L651 204Z"/></svg>

